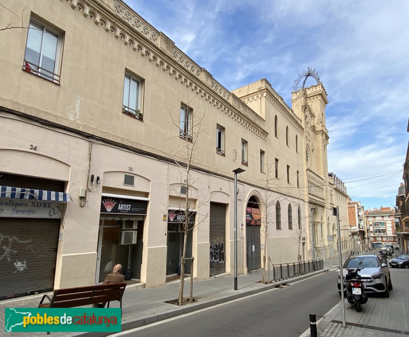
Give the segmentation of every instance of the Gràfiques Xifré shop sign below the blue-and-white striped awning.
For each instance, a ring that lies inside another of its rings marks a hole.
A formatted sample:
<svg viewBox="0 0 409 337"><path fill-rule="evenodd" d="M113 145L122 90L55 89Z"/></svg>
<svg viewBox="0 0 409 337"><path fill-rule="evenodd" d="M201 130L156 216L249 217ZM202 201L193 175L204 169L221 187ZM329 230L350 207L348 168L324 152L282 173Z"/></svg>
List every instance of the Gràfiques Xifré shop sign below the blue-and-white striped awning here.
<svg viewBox="0 0 409 337"><path fill-rule="evenodd" d="M64 204L38 200L0 198L0 218L53 218L61 219Z"/></svg>

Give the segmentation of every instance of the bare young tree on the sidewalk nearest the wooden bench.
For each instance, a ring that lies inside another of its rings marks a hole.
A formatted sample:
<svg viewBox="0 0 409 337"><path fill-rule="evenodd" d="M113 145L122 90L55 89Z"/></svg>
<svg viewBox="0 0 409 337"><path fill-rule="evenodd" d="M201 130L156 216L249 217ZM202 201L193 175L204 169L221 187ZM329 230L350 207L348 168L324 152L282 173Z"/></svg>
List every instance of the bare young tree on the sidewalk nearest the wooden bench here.
<svg viewBox="0 0 409 337"><path fill-rule="evenodd" d="M192 100L191 100L192 101ZM189 104L191 103L189 102ZM177 139L175 143L177 146L171 151L171 157L173 163L178 167L180 175L180 183L183 186L184 194L180 191L179 195L179 213L181 214L182 224L184 229L183 240L183 253L180 263L180 287L178 296L178 305L183 305L183 289L185 279L185 263L188 242L188 232L193 230L195 226L198 226L203 222L208 214L199 214L200 207L207 204L206 196L204 198L197 197L196 200L192 198L192 191L195 190L195 183L198 180L195 167L200 164L200 157L203 154L203 150L200 149L199 136L203 132L202 123L205 118L206 111L200 116L198 109L193 113L190 105L186 107L186 114L183 116L184 121L176 119L172 116L171 111L168 109L168 113L172 119L172 123L177 129L179 129L179 136L173 138L183 138L184 141L180 143L180 139ZM184 197L183 197L184 195ZM190 219L196 214L196 225L192 224ZM200 221L198 219L200 215ZM193 264L193 261L190 261Z"/></svg>

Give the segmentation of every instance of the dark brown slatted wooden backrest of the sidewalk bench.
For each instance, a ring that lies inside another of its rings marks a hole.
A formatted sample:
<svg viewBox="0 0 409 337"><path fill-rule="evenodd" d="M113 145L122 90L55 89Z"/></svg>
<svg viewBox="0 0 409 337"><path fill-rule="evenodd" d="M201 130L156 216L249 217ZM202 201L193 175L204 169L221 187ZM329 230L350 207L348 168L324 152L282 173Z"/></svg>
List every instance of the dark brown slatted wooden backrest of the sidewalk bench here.
<svg viewBox="0 0 409 337"><path fill-rule="evenodd" d="M126 283L88 285L56 289L50 303L53 308L71 308L122 299Z"/></svg>

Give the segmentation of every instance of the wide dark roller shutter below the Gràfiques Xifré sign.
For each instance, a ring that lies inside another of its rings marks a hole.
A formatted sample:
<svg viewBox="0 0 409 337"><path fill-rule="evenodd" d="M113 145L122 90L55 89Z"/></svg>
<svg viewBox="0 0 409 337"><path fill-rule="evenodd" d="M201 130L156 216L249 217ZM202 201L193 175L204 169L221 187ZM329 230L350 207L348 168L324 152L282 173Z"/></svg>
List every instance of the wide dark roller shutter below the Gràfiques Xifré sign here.
<svg viewBox="0 0 409 337"><path fill-rule="evenodd" d="M52 291L59 219L0 218L0 300Z"/></svg>

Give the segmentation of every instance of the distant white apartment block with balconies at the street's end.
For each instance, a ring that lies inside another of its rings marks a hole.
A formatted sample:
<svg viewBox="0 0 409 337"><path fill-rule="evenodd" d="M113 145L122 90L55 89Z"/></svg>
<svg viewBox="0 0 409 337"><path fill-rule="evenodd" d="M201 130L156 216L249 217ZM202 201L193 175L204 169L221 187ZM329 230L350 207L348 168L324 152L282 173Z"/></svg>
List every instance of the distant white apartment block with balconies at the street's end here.
<svg viewBox="0 0 409 337"><path fill-rule="evenodd" d="M396 245L394 208L381 206L380 209L369 209L365 211L365 218L370 228L372 248L376 244Z"/></svg>

